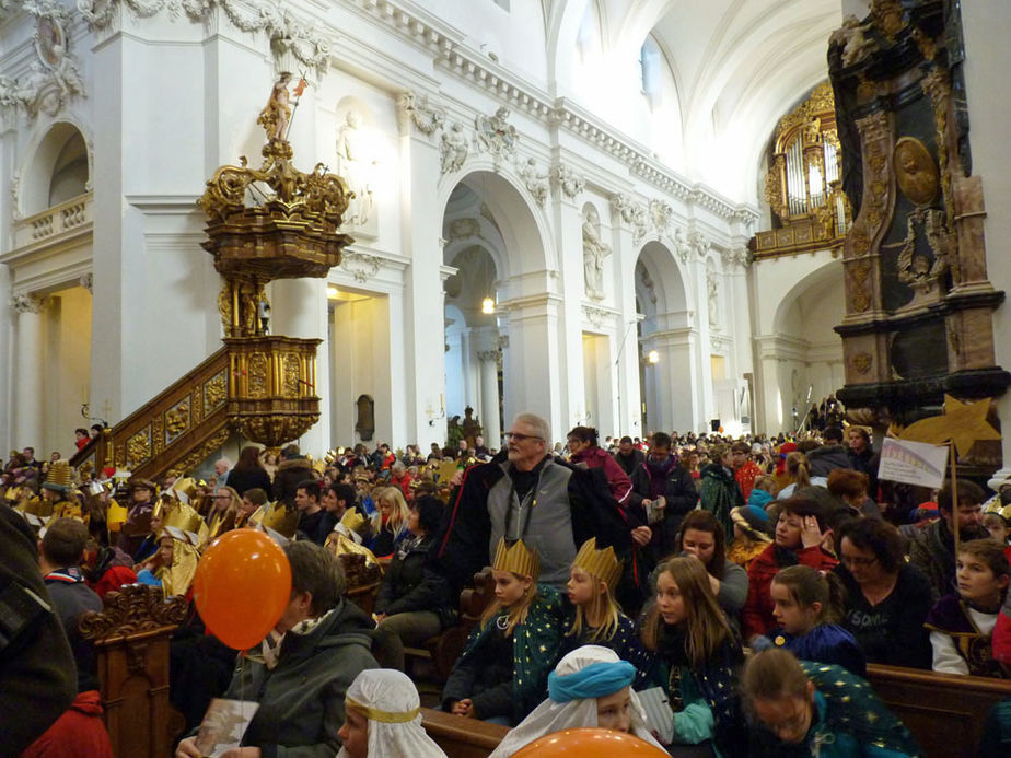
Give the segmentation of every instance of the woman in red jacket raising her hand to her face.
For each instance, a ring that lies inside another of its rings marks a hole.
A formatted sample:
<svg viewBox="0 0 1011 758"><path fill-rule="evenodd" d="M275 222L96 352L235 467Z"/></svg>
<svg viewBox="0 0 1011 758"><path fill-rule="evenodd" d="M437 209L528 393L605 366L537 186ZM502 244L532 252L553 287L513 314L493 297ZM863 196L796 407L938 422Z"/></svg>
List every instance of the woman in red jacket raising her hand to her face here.
<svg viewBox="0 0 1011 758"><path fill-rule="evenodd" d="M748 641L776 626L769 585L780 569L800 564L829 571L839 563L822 547L832 533L825 528L818 503L791 498L780 504L776 539L758 553L747 570L747 602L741 611L741 628Z"/></svg>

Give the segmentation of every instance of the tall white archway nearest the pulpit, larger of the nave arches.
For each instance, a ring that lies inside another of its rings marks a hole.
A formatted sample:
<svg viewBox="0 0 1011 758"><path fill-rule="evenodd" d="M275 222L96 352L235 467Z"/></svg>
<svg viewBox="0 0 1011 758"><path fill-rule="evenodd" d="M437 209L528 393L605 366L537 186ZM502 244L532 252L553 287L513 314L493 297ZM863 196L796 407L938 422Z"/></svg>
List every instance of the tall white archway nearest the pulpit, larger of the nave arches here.
<svg viewBox="0 0 1011 758"><path fill-rule="evenodd" d="M518 412L559 428L560 298L550 291L543 222L518 186L491 171L465 175L445 203L443 263L456 269L445 282L445 412L474 408L490 447Z"/></svg>

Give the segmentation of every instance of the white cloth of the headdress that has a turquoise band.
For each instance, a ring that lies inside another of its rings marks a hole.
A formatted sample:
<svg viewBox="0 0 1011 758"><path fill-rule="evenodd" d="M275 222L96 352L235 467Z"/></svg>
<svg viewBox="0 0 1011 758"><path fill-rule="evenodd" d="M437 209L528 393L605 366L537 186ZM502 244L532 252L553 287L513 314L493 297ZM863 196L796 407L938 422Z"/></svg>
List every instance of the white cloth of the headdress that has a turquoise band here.
<svg viewBox="0 0 1011 758"><path fill-rule="evenodd" d="M618 661L620 661L618 654L608 648L583 645L559 661L558 666L555 667L555 673L558 676L569 676L594 663L618 663ZM519 726L506 735L489 758L508 758L520 748L546 734L581 726L594 727L596 725L596 698L583 698L563 703L555 702L548 698L520 722ZM642 709L639 697L635 691L631 691L631 726L629 731L639 739L663 749L646 725L646 711Z"/></svg>

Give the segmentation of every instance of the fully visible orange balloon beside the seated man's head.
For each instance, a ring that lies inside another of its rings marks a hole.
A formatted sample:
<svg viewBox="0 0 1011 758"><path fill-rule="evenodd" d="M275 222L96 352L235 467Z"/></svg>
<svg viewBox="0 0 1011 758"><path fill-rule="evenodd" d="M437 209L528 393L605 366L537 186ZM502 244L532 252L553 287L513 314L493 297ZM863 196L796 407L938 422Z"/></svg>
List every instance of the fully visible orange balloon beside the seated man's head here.
<svg viewBox="0 0 1011 758"><path fill-rule="evenodd" d="M291 597L291 565L263 532L234 529L210 544L197 564L194 602L208 630L247 650L281 618Z"/></svg>

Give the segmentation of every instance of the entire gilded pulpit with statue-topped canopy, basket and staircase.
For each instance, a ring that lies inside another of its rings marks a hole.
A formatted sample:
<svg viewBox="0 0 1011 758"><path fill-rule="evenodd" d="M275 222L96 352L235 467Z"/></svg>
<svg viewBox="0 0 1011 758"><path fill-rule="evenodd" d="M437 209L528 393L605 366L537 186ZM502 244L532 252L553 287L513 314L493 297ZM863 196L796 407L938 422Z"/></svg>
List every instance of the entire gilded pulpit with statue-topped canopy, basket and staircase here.
<svg viewBox="0 0 1011 758"><path fill-rule="evenodd" d="M233 433L279 447L319 419L321 340L268 336L264 288L275 279L323 278L340 264L353 242L338 231L353 193L324 163L310 174L292 165L282 128L291 116L287 81L275 84L258 120L267 132L260 167L245 156L219 166L198 201L208 220L202 247L224 280L217 303L224 347L89 443L72 465L114 466L147 479L185 474Z"/></svg>

